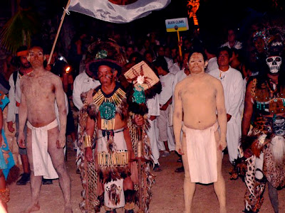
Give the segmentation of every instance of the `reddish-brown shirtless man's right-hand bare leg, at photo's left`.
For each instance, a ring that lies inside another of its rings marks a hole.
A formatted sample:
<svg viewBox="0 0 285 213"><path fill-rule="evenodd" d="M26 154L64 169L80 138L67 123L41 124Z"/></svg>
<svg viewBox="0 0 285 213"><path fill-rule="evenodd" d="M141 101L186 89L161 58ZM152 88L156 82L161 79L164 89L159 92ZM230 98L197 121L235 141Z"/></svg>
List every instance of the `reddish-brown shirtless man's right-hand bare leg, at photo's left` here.
<svg viewBox="0 0 285 213"><path fill-rule="evenodd" d="M71 208L71 178L66 170L63 148L56 147L58 138L58 127L48 130L48 153L51 155L53 167L56 169L59 178L59 185L63 191L64 212L72 212Z"/></svg>

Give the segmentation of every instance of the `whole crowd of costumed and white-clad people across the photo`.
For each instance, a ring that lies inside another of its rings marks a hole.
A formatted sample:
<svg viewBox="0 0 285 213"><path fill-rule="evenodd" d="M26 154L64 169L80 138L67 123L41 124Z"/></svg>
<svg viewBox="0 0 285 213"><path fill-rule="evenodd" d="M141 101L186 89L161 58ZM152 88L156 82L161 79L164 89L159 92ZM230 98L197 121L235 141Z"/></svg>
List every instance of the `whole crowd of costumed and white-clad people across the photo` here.
<svg viewBox="0 0 285 213"><path fill-rule="evenodd" d="M25 212L40 209L41 184L56 178L64 212L72 212L66 136L78 156L82 211L100 212L104 206L106 212L124 207L131 213L138 204L148 212L152 172L162 171L159 159L176 151L182 167L175 172L185 173L185 212L191 212L196 182L214 182L219 211L227 212L222 152L233 165L231 178L244 177L245 212L259 211L266 182L278 212L276 189L285 185L282 36L256 29L249 39L256 60L245 57L246 44L233 28L218 45L203 41L196 29L180 42L150 32L138 44L122 43L118 33L95 40L81 32L66 57L38 45L19 48L0 76L2 111L8 105L0 127L16 132L23 167L16 184L31 181ZM6 208L7 177L16 170L4 131L2 136L0 197Z"/></svg>

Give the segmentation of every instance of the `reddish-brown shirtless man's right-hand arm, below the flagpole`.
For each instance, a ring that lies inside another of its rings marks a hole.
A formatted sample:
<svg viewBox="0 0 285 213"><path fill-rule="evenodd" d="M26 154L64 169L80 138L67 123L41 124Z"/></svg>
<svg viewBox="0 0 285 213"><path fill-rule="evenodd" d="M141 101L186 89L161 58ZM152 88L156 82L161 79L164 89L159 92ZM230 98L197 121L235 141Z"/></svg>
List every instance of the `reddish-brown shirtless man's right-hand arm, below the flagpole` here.
<svg viewBox="0 0 285 213"><path fill-rule="evenodd" d="M58 105L58 114L60 122L60 130L58 139L56 140L57 148L63 148L66 146L66 99L64 97L63 86L61 79L56 77L54 80L56 104ZM21 104L20 104L21 106Z"/></svg>

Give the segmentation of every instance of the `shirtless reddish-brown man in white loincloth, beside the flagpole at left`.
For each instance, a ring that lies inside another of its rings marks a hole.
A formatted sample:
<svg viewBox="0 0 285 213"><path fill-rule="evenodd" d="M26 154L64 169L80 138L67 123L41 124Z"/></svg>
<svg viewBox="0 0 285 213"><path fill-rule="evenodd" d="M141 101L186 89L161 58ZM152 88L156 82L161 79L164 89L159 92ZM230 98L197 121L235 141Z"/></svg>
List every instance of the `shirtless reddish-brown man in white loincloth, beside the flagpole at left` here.
<svg viewBox="0 0 285 213"><path fill-rule="evenodd" d="M65 201L64 212L72 212L71 180L63 155L63 147L66 145L66 106L62 82L58 76L44 69L42 48L31 48L28 60L33 71L21 78L19 107L19 146L27 149L31 168L32 199L24 212L40 209L38 198L42 176L49 179L59 176ZM55 100L58 105L60 128L56 119ZM28 128L25 143L26 121Z"/></svg>

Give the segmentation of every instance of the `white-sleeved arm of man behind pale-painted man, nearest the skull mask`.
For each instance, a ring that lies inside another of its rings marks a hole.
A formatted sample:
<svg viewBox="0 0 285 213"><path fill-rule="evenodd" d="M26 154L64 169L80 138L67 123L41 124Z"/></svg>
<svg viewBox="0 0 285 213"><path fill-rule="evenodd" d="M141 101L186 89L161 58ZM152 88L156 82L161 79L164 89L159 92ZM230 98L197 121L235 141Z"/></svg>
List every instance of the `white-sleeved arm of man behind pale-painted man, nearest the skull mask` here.
<svg viewBox="0 0 285 213"><path fill-rule="evenodd" d="M234 101L230 103L229 109L227 110L227 121L232 118L237 111L239 111L239 107L242 104L242 97L244 95L244 82L242 80L242 75L237 75L234 78Z"/></svg>

